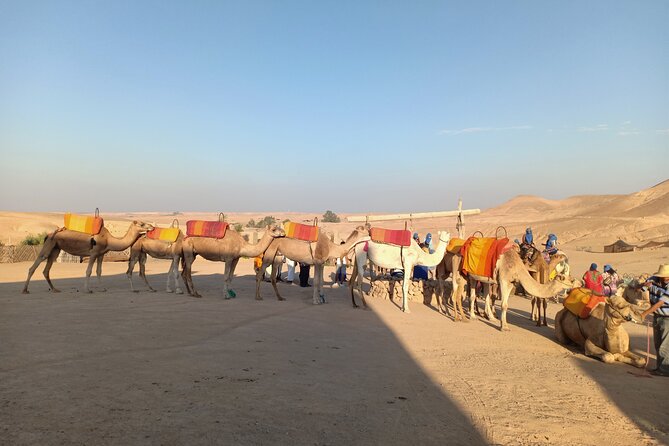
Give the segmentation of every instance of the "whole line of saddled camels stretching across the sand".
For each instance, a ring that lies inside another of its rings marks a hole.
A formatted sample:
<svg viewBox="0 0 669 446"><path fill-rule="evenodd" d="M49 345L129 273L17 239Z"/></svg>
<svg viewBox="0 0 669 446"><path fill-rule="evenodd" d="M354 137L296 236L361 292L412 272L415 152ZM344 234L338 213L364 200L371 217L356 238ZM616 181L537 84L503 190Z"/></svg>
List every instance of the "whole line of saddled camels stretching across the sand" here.
<svg viewBox="0 0 669 446"><path fill-rule="evenodd" d="M460 223L460 220L459 220ZM499 228L498 228L499 230ZM637 296L634 287L621 286L618 294L611 298L585 299L584 289L578 288L578 280L569 277L569 268L564 253L558 252L547 259L522 259L518 246L506 237L471 236L451 238L447 231L438 232L438 244L432 252L424 251L411 237L411 231L372 227L368 222L356 227L342 244L335 244L318 227L313 225L285 222L283 226L270 224L258 243L252 244L237 231L229 230L223 214L218 221L190 220L186 222L184 233L179 222L174 220L167 228L159 228L142 221L129 223L126 234L117 238L104 226L104 220L96 209L94 216L65 214L64 226L47 235L44 246L28 270L23 293L28 293L30 279L38 266L46 261L44 277L49 290L59 292L51 282L49 272L60 251L74 256L88 257L84 290L91 293L90 275L96 265L98 284L101 285L102 260L109 251L124 251L130 248L130 258L126 275L132 291L138 291L132 281L135 264L139 263L139 276L150 291L155 291L146 277L148 256L171 260L167 274L166 292L183 293L179 286L179 265L186 291L193 297L201 297L196 291L192 278L192 265L197 256L209 261L224 262L223 296L236 297L232 279L239 259L242 257L262 257L262 265L256 272L255 298L261 300L260 285L263 271L273 265L271 284L278 300L285 300L276 284L276 271L281 257L314 266L313 303L326 303L323 291L323 271L327 261L344 257L353 251L354 264L350 279L351 301L355 301L355 291L366 307L362 289L363 274L368 263L385 269L401 269L402 311L409 313L408 291L411 271L421 265L435 268L438 283L437 308L448 314L444 302L444 282L451 277L452 286L449 300L453 308L453 320L467 320L463 311L465 287L469 287L469 319L475 320L477 285L481 285L484 296L485 316L496 321L493 311L494 299L501 299L500 329L509 330L506 320L509 297L515 286L522 286L525 293L533 298L538 308L537 325L546 325L546 300L569 290L565 308L556 316L556 335L562 343L574 342L585 349L585 353L605 362L614 360L639 366L643 361L630 354L629 337L621 324L638 320L647 298ZM541 257L541 256L539 256ZM371 268L374 271L374 268ZM104 291L104 289L103 289ZM585 293L587 294L587 293ZM638 294L638 293L637 293ZM628 297L629 295L629 297ZM639 301L637 301L639 299ZM587 303L584 303L586 302ZM543 320L541 305L543 304ZM587 307L587 308L586 308ZM587 311L586 311L587 310ZM586 314L587 313L587 314ZM645 364L645 362L643 362ZM641 364L643 366L643 364Z"/></svg>

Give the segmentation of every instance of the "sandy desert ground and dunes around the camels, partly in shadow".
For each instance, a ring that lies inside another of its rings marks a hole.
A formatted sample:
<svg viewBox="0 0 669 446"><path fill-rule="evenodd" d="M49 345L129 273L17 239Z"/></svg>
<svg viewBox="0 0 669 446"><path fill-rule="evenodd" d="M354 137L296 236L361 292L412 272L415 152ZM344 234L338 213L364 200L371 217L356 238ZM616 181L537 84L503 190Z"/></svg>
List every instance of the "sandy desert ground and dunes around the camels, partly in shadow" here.
<svg viewBox="0 0 669 446"><path fill-rule="evenodd" d="M555 232L579 276L593 261L652 273L669 262L669 248L604 254L602 246L669 239L668 200L667 181L621 196L518 197L466 223L486 234L502 225L511 238L527 225L537 236ZM116 232L127 219L173 218L104 216ZM61 220L0 212L0 234L7 243ZM454 232L454 223L414 227ZM325 226L345 236L353 224ZM355 310L349 290L330 288L330 279L326 305L311 304L310 288L287 284L279 284L287 301L275 300L267 283L265 299L255 301L250 260L240 262L232 300L221 296L223 265L202 259L194 265L202 299L132 293L126 265L116 262L104 265L105 292L79 292L85 265L56 264L62 292L47 291L40 268L26 296L28 267L0 264L3 444L669 444L669 381L558 344L554 303L549 327L536 327L529 300L512 297L512 331L503 333L417 302L411 314L377 299ZM163 288L167 268L149 261L154 287ZM647 327L626 328L632 349L645 355Z"/></svg>

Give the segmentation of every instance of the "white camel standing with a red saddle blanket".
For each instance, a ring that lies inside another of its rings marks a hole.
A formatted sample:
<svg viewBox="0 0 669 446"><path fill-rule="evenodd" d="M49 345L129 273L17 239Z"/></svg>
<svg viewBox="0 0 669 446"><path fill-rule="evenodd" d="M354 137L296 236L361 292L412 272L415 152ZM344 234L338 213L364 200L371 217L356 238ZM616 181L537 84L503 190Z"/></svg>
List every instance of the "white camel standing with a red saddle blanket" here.
<svg viewBox="0 0 669 446"><path fill-rule="evenodd" d="M397 268L404 270L404 279L402 280L402 311L409 313L407 296L409 294L409 281L411 280L413 267L415 265L428 267L437 266L441 263L450 238L451 235L448 232L439 231L439 245L436 247L433 254L428 254L423 251L415 240L411 240L411 245L405 247L369 241L367 242L366 251L363 246L356 246L355 264L353 265L353 272L351 273L350 280L351 301L353 307L358 307L355 303L355 295L353 292L353 288L356 287L356 285L362 298L363 306L367 306L365 295L362 292L362 279L365 264L367 263L367 260L369 260L374 265L381 268Z"/></svg>

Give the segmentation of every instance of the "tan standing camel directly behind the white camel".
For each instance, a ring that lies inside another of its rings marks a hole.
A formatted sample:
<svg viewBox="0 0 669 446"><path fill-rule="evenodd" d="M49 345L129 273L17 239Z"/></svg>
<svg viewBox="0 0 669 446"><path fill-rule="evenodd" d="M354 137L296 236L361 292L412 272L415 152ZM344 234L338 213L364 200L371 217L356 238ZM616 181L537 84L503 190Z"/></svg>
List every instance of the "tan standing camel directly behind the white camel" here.
<svg viewBox="0 0 669 446"><path fill-rule="evenodd" d="M294 238L281 238L274 240L272 244L265 251L263 256L262 266L256 273L256 299L262 300L260 297L260 282L262 281L262 274L265 268L272 264L272 287L277 299L285 300L279 294L279 289L276 286L276 271L278 271L278 262L276 261L277 253L283 254L287 258L299 263L306 263L314 265L314 295L313 303L318 305L325 303L325 295L323 294L323 269L325 262L328 259L337 259L345 256L351 248L358 243L369 240L369 227L358 226L351 232L343 244L336 245L330 238L321 230L318 230L318 240L316 242L308 242L305 240L298 240Z"/></svg>

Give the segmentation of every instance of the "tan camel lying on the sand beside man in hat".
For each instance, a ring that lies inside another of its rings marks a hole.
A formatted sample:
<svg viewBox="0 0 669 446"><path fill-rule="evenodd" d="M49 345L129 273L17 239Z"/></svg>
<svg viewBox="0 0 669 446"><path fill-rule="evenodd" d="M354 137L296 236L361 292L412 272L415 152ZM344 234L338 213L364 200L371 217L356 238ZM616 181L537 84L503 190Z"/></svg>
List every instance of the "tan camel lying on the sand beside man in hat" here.
<svg viewBox="0 0 669 446"><path fill-rule="evenodd" d="M590 317L581 319L566 308L555 315L555 336L561 344L574 342L594 356L610 364L615 361L643 367L646 360L629 351L629 334L622 324L626 321L643 322L644 308L627 302L624 287L606 298L604 305L593 308Z"/></svg>

